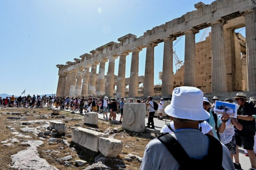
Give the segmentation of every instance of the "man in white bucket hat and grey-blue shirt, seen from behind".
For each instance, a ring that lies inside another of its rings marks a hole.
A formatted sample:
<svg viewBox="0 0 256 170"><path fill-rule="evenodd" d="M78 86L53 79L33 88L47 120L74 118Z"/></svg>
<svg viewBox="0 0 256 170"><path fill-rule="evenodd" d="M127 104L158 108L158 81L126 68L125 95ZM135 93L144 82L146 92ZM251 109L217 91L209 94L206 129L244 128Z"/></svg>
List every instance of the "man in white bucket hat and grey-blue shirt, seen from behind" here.
<svg viewBox="0 0 256 170"><path fill-rule="evenodd" d="M177 87L165 113L173 118L173 133L163 133L146 146L141 170L225 169L234 170L226 146L198 130L210 114L203 109L203 92L195 87ZM186 107L184 107L184 102Z"/></svg>

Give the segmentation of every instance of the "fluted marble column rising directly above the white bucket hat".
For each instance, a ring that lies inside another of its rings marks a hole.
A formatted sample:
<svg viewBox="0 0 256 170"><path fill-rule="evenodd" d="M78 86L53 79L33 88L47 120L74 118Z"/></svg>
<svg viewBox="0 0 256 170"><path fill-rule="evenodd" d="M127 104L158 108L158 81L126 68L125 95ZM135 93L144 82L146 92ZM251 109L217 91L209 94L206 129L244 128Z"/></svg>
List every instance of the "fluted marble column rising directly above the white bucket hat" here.
<svg viewBox="0 0 256 170"><path fill-rule="evenodd" d="M184 32L184 86L196 87L196 33L198 33L198 30L196 29L191 29Z"/></svg>

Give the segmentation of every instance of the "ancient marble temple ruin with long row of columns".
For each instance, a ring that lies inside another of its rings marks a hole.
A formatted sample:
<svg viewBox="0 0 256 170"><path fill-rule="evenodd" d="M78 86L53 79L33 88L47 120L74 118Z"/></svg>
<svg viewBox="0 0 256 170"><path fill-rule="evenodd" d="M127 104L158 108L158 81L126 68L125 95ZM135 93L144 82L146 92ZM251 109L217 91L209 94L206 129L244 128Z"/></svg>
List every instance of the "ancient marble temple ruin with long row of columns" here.
<svg viewBox="0 0 256 170"><path fill-rule="evenodd" d="M162 96L170 97L178 86L198 87L207 93L256 91L255 12L249 0L199 2L196 10L147 30L140 37L127 34L81 59L59 68L57 96ZM195 34L211 27L210 36L196 43ZM245 27L246 39L234 30ZM184 65L173 75L173 41L185 35ZM162 85L154 93L154 47L164 43ZM145 75L138 76L139 52L146 48ZM126 56L132 53L130 78L125 78ZM114 75L119 58L118 75ZM105 63L109 61L105 75ZM97 75L97 65L99 74ZM91 72L89 68L91 67ZM138 84L144 87L139 88ZM117 86L114 91L115 85ZM129 89L126 89L129 85ZM142 92L143 94L139 94Z"/></svg>

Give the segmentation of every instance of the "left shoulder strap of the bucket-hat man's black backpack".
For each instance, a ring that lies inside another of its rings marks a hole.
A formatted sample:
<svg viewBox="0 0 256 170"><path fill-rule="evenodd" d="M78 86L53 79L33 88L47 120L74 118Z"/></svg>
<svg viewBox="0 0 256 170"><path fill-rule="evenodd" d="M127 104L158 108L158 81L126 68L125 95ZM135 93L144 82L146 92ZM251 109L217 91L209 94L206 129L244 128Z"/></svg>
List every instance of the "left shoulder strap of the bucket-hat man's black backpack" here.
<svg viewBox="0 0 256 170"><path fill-rule="evenodd" d="M180 165L185 165L188 162L188 154L171 134L161 133L157 136L157 139L166 146L168 151Z"/></svg>

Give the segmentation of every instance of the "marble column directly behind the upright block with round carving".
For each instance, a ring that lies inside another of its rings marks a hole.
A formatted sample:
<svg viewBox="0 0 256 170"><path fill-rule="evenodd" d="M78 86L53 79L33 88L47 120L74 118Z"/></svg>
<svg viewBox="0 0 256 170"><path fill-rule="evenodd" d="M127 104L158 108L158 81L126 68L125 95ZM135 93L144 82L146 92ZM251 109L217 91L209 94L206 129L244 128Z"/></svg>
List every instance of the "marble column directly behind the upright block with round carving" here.
<svg viewBox="0 0 256 170"><path fill-rule="evenodd" d="M128 97L130 98L138 96L139 52L141 50L141 48L137 47L131 49L131 71L128 94Z"/></svg>

